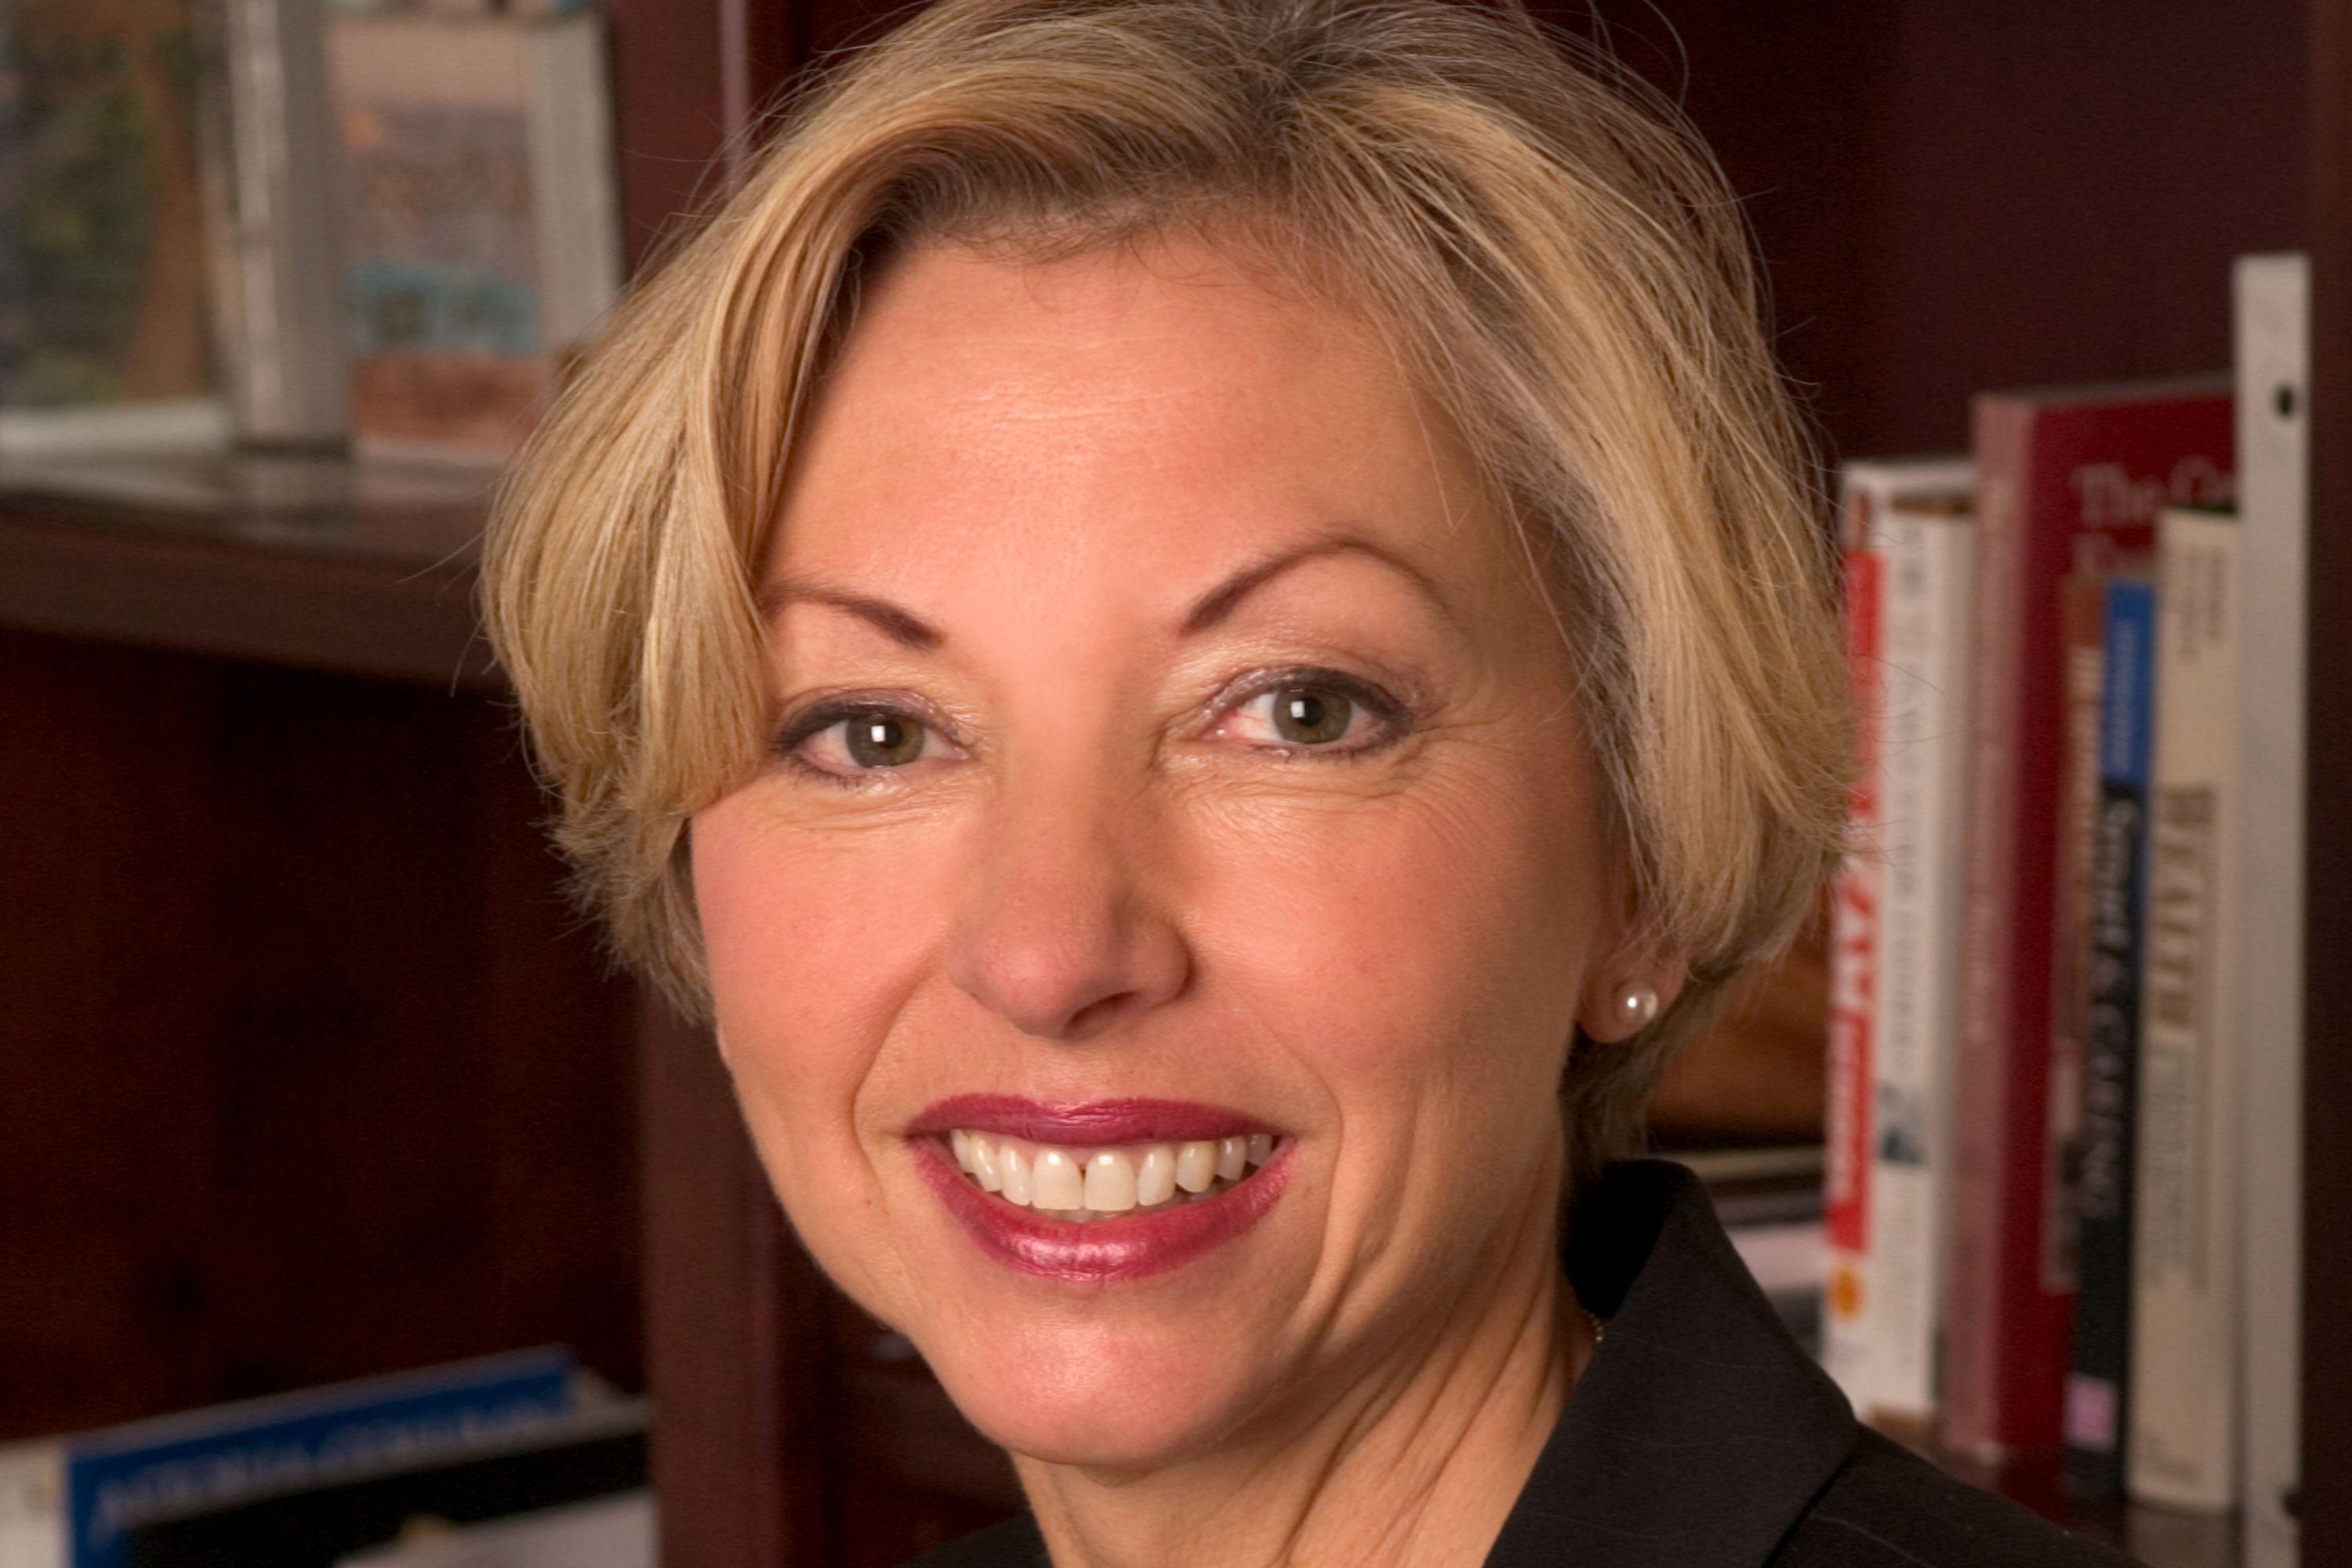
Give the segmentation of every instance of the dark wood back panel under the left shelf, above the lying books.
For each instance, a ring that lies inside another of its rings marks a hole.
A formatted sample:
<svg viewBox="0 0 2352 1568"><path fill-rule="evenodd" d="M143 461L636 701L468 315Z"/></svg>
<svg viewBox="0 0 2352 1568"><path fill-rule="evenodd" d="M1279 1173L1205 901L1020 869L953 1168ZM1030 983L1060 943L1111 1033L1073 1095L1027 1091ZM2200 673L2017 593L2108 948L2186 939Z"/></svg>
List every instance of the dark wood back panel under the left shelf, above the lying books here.
<svg viewBox="0 0 2352 1568"><path fill-rule="evenodd" d="M546 1340L637 1382L628 992L506 710L0 630L0 1436Z"/></svg>

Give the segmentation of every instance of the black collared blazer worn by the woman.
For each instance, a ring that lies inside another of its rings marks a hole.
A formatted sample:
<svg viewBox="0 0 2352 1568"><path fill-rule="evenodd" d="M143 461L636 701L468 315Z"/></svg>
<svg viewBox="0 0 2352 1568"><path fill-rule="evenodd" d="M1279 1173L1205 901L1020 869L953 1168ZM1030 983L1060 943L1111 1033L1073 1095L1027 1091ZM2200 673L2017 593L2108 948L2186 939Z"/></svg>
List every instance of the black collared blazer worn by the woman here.
<svg viewBox="0 0 2352 1568"><path fill-rule="evenodd" d="M1486 1568L2129 1563L1856 1422L1686 1168L1611 1166L1566 1232L1569 1281L1609 1328ZM913 1568L1049 1566L1021 1516Z"/></svg>

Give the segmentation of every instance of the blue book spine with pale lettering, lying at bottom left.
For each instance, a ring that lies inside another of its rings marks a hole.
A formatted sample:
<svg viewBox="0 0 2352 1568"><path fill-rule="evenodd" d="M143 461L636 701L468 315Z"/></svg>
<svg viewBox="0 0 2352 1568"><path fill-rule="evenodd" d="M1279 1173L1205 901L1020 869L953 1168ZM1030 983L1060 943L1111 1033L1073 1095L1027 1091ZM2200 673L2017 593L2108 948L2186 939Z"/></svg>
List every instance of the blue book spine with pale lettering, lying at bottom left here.
<svg viewBox="0 0 2352 1568"><path fill-rule="evenodd" d="M167 1415L66 1446L68 1568L122 1568L125 1535L261 1493L381 1472L574 1410L572 1354L517 1352Z"/></svg>

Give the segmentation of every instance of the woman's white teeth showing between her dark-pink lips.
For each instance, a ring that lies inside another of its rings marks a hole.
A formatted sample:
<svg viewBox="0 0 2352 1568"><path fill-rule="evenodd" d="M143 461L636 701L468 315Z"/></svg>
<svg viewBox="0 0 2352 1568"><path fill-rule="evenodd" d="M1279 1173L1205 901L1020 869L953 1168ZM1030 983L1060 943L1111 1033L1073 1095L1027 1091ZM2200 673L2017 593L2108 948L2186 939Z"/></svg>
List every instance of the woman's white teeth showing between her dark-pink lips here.
<svg viewBox="0 0 2352 1568"><path fill-rule="evenodd" d="M1094 1147L964 1128L948 1133L957 1168L983 1192L1080 1222L1221 1197L1272 1159L1277 1145L1270 1133Z"/></svg>

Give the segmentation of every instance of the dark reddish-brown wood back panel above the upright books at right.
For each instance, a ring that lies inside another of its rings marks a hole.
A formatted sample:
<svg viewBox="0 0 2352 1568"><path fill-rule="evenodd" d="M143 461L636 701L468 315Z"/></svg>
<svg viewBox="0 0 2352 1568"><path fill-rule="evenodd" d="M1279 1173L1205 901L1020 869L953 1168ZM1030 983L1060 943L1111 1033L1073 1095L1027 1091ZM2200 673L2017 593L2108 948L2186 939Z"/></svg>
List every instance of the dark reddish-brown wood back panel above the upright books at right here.
<svg viewBox="0 0 2352 1568"><path fill-rule="evenodd" d="M1846 454L1983 388L2230 364L2230 259L2310 235L2307 0L1538 5L1599 16L1748 207Z"/></svg>

